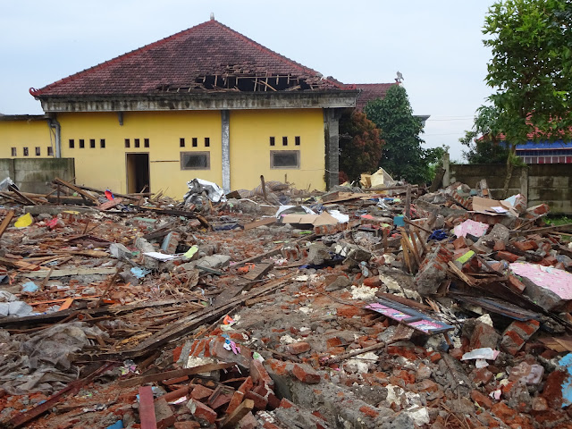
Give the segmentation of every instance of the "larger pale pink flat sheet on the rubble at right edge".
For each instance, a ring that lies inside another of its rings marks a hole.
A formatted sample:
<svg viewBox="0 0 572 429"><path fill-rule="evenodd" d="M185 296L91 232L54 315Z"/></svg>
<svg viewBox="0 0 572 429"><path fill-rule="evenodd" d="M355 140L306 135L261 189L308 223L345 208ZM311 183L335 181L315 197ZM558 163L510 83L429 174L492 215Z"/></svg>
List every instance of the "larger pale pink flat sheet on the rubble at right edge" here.
<svg viewBox="0 0 572 429"><path fill-rule="evenodd" d="M510 264L513 273L526 277L541 288L551 290L561 299L572 299L572 274L551 266L515 262Z"/></svg>

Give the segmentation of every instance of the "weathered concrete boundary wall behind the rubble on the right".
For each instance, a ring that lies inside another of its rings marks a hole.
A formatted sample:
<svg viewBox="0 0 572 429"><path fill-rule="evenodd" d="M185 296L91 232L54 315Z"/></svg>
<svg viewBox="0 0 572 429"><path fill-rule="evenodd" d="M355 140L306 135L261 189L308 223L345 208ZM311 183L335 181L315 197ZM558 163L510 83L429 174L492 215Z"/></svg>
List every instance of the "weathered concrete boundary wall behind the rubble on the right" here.
<svg viewBox="0 0 572 429"><path fill-rule="evenodd" d="M447 164L445 164L447 166ZM450 164L449 181L445 186L460 181L475 188L476 183L486 179L492 198L501 198L506 165L503 164ZM572 165L530 164L514 167L509 182L509 195L523 194L528 206L546 203L551 214L572 214Z"/></svg>

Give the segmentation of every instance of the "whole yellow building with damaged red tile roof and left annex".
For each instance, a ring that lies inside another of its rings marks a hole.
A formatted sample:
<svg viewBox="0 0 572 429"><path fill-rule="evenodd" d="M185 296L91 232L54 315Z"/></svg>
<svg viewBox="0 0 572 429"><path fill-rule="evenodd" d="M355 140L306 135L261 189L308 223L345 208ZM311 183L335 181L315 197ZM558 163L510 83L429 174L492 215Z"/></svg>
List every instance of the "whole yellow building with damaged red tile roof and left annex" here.
<svg viewBox="0 0 572 429"><path fill-rule="evenodd" d="M77 183L180 199L194 178L337 184L338 119L359 90L211 20L30 93L46 115L0 120L0 157L39 148L74 158Z"/></svg>

